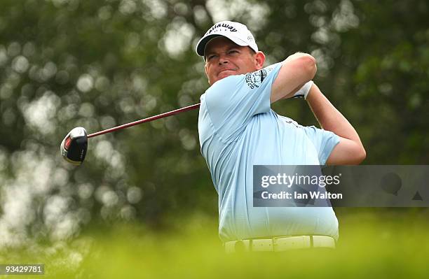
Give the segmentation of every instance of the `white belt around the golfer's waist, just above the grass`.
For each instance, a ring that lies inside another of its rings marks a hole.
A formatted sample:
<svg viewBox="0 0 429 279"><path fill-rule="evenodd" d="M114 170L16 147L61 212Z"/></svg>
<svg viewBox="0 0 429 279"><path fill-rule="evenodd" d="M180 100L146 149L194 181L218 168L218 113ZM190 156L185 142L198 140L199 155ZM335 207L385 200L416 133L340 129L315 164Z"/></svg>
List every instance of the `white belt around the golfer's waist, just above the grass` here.
<svg viewBox="0 0 429 279"><path fill-rule="evenodd" d="M224 243L227 253L250 251L285 251L303 248L335 248L330 236L279 236L275 238L242 239Z"/></svg>

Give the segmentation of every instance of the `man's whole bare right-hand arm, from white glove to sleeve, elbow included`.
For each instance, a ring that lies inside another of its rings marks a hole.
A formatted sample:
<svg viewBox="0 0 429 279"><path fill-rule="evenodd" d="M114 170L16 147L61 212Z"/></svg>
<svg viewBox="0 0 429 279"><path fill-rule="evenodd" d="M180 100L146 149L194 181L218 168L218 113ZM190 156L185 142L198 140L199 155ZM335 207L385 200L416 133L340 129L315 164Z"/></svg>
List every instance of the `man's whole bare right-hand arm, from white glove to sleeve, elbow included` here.
<svg viewBox="0 0 429 279"><path fill-rule="evenodd" d="M320 126L340 137L340 142L332 150L327 164L360 164L367 156L359 135L339 110L313 84L307 99L308 105Z"/></svg>

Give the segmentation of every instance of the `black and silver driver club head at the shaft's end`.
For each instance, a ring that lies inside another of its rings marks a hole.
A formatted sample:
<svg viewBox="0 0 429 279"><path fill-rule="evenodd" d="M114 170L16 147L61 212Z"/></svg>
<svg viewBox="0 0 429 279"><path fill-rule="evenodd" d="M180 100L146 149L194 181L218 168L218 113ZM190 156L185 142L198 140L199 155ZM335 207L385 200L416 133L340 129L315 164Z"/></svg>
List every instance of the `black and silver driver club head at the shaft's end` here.
<svg viewBox="0 0 429 279"><path fill-rule="evenodd" d="M85 159L87 148L88 137L86 130L83 127L76 127L62 140L60 151L67 162L79 166Z"/></svg>

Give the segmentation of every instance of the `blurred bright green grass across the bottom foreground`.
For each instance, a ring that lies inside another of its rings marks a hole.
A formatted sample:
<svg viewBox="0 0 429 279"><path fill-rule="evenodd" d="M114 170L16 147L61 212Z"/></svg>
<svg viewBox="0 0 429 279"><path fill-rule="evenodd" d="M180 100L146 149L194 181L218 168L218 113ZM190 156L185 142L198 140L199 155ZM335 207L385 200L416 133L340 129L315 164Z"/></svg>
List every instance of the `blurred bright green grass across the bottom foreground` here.
<svg viewBox="0 0 429 279"><path fill-rule="evenodd" d="M428 213L348 208L338 215L332 251L226 255L217 223L193 217L169 232L119 224L38 252L8 251L14 262L46 265L43 277L9 278L427 278Z"/></svg>

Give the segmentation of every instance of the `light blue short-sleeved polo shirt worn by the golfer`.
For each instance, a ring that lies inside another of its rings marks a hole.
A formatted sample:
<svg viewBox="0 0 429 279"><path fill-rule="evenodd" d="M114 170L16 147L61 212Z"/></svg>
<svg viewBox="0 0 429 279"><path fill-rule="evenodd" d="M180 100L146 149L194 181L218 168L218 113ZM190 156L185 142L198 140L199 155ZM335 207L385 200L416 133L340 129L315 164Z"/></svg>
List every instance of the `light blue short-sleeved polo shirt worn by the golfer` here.
<svg viewBox="0 0 429 279"><path fill-rule="evenodd" d="M324 165L339 136L303 127L270 107L281 64L229 76L200 97L201 153L219 194L222 241L287 235L338 238L330 207L253 207L253 165Z"/></svg>

